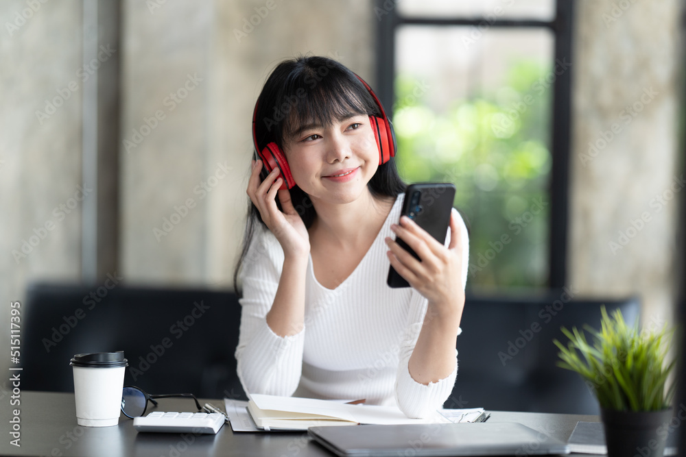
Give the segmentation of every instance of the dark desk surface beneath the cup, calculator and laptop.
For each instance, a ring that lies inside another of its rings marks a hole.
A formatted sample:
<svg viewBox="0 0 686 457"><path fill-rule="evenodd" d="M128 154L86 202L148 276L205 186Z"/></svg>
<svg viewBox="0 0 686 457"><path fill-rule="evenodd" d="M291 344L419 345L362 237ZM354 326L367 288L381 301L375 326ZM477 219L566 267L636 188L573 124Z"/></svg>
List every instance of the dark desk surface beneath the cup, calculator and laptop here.
<svg viewBox="0 0 686 457"><path fill-rule="evenodd" d="M208 400L200 400L203 404ZM71 393L21 393L21 447L10 444L10 397L0 399L0 456L331 456L302 432L233 433L227 423L216 435L138 433L121 415L116 427L88 428L76 423ZM189 410L189 399L160 399L158 410ZM222 400L209 400L224 409ZM150 405L152 406L152 404ZM567 441L577 421L598 416L494 411L489 421L512 421ZM588 454L587 454L588 455Z"/></svg>

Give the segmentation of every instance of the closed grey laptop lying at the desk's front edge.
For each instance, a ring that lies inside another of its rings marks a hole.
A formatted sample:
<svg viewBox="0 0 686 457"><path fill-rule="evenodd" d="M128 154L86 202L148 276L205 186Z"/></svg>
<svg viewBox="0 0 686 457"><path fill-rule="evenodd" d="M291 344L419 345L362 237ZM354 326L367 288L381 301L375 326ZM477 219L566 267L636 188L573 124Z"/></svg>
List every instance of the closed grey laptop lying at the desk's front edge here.
<svg viewBox="0 0 686 457"><path fill-rule="evenodd" d="M569 454L566 443L514 422L326 426L308 433L342 457Z"/></svg>

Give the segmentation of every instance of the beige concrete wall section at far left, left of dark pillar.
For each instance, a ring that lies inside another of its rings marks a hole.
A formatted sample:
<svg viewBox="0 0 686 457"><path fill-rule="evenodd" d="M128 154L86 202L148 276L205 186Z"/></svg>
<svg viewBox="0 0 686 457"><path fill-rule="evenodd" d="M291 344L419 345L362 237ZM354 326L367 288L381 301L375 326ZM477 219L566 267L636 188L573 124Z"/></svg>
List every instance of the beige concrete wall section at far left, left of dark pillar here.
<svg viewBox="0 0 686 457"><path fill-rule="evenodd" d="M27 282L81 277L81 2L38 5L0 2L3 338L9 303L23 301ZM3 351L0 367L8 360Z"/></svg>

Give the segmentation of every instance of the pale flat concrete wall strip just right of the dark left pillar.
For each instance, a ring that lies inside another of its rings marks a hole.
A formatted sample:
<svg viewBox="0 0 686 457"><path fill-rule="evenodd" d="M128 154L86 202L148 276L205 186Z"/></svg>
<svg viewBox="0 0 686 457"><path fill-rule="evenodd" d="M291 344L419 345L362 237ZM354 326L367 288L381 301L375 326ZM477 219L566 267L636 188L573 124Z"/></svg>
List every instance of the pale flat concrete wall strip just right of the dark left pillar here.
<svg viewBox="0 0 686 457"><path fill-rule="evenodd" d="M198 283L206 199L193 190L208 178L211 2L149 5L123 2L121 273L129 283Z"/></svg>

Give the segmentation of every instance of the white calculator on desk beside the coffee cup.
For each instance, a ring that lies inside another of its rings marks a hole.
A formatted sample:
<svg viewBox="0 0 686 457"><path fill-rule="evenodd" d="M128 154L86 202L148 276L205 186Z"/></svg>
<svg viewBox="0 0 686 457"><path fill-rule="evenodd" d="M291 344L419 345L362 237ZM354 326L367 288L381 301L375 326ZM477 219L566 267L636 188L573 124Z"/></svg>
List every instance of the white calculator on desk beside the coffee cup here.
<svg viewBox="0 0 686 457"><path fill-rule="evenodd" d="M154 411L145 417L134 418L133 426L139 432L215 434L224 425L224 419L219 412Z"/></svg>

